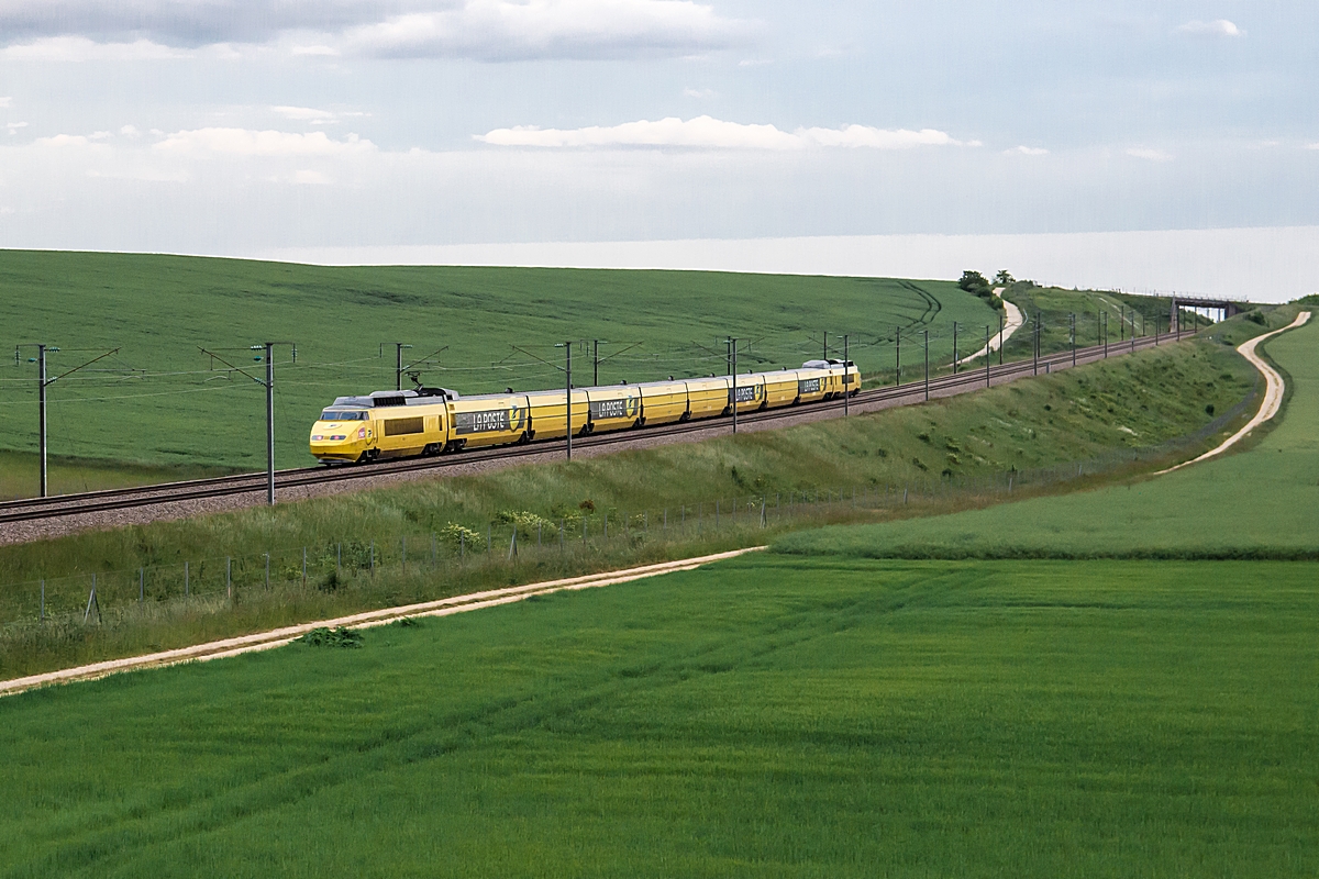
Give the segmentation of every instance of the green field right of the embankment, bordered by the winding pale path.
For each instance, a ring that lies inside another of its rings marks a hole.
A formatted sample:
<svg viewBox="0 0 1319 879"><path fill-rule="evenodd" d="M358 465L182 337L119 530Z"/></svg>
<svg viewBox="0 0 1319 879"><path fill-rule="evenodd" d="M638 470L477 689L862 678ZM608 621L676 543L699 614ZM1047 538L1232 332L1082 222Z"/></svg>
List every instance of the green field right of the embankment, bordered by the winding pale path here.
<svg viewBox="0 0 1319 879"><path fill-rule="evenodd" d="M1275 323L1294 315L1279 310ZM1167 476L921 521L803 531L783 552L872 557L1319 557L1319 323L1265 343L1287 380L1249 451Z"/></svg>

